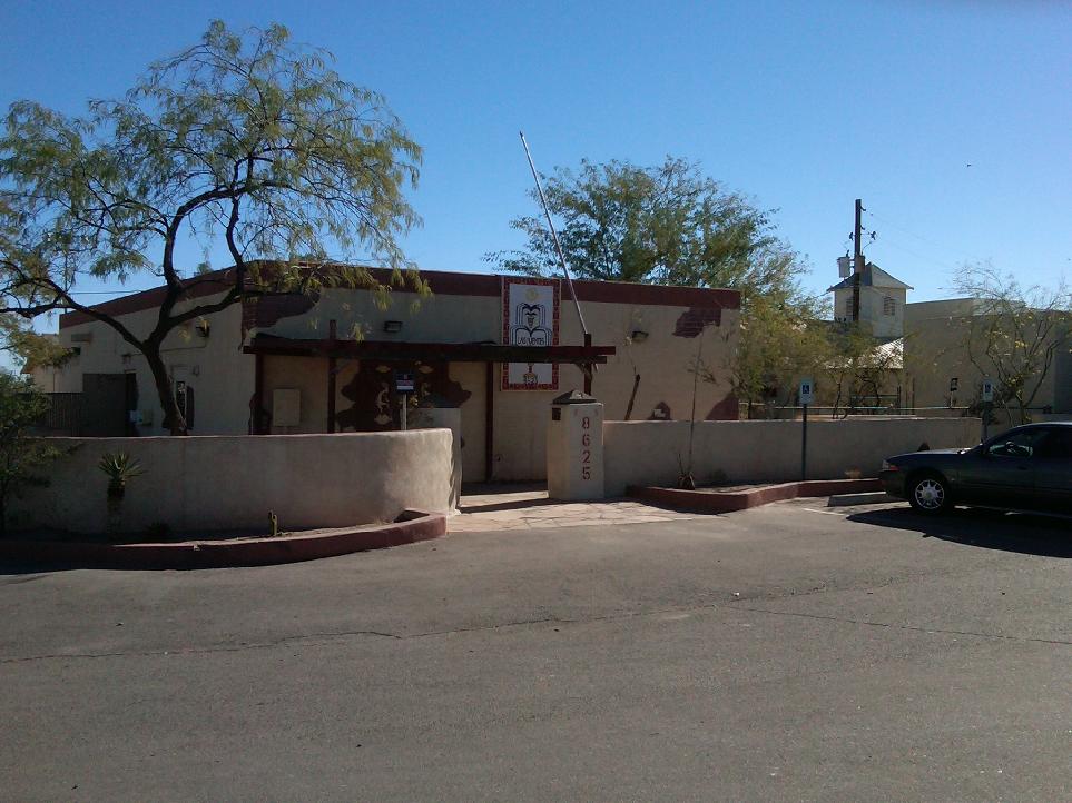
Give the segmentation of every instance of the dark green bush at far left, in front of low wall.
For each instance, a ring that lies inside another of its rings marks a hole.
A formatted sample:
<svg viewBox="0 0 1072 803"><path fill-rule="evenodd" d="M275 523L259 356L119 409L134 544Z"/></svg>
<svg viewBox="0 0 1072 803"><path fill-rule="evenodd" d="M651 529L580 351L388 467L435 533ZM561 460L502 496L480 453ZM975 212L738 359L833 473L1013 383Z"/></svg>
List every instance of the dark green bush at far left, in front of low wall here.
<svg viewBox="0 0 1072 803"><path fill-rule="evenodd" d="M48 399L32 383L0 371L0 532L7 531L8 502L21 488L47 485L36 472L60 455L32 428L48 410Z"/></svg>

